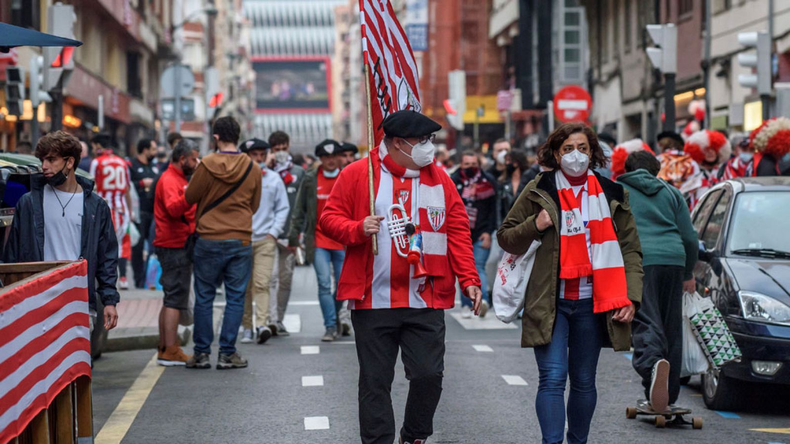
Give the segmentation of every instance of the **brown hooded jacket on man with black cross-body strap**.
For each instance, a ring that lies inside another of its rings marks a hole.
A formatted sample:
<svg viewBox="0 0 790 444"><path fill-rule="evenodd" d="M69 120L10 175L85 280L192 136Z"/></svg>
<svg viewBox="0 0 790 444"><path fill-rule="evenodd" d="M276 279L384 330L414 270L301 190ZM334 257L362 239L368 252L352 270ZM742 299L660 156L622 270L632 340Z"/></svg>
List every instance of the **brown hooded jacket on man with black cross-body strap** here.
<svg viewBox="0 0 790 444"><path fill-rule="evenodd" d="M206 206L228 192L242 179L249 156L216 152L205 156L186 187L186 201L198 204L197 232L211 240L239 239L247 243L252 237L252 215L261 203L261 169L253 164L250 174L238 190L220 205L203 214Z"/></svg>

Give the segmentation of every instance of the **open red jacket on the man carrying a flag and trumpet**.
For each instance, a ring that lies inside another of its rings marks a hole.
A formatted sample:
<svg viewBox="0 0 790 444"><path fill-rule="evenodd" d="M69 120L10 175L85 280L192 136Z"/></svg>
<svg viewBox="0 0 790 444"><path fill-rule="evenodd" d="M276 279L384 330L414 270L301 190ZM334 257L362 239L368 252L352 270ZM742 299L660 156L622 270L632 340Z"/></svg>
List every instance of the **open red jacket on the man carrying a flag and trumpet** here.
<svg viewBox="0 0 790 444"><path fill-rule="evenodd" d="M373 160L374 187L378 193L381 160L378 148L370 154ZM434 177L442 182L446 205L447 254L427 261L425 267L433 278L434 297L427 301L429 308L447 309L455 303L456 277L461 288L480 286L475 268L469 218L449 175L434 164ZM319 224L325 235L347 246L343 271L337 284L337 299L363 300L371 295L373 280L373 253L371 237L365 235L362 224L370 216L368 200L367 159L354 162L340 173L329 200L326 202Z"/></svg>

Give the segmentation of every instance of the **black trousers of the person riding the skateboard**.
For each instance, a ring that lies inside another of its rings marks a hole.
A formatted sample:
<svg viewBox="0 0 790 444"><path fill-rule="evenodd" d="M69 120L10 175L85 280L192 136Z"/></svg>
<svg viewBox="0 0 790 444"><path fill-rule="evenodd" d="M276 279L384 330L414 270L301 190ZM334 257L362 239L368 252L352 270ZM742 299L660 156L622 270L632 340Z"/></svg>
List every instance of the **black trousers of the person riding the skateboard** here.
<svg viewBox="0 0 790 444"><path fill-rule="evenodd" d="M653 366L659 359L669 361L669 403L680 393L680 366L683 359L683 267L647 265L642 302L634 322L634 370L642 378L649 399Z"/></svg>

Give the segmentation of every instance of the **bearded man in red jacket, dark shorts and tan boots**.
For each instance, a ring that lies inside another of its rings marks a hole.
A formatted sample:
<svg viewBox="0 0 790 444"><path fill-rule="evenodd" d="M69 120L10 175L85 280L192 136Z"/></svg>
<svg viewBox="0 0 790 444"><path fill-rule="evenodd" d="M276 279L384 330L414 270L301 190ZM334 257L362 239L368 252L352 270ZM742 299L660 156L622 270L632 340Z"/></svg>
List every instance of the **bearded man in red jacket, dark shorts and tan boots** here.
<svg viewBox="0 0 790 444"><path fill-rule="evenodd" d="M171 156L170 166L156 184L153 216L156 236L153 241L156 256L162 265L164 304L159 312L159 354L156 362L162 366L186 364L189 356L179 347L179 318L190 302L192 258L187 239L195 231L195 206L186 202L186 176L191 175L198 161L193 144L179 141Z"/></svg>

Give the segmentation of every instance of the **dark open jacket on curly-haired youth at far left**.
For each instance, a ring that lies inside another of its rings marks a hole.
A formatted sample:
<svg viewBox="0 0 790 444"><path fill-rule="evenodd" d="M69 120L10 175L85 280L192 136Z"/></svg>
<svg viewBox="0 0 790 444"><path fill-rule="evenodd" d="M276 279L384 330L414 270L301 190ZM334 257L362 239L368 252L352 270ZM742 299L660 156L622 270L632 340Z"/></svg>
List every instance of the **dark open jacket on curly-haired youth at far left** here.
<svg viewBox="0 0 790 444"><path fill-rule="evenodd" d="M3 262L40 262L44 258L43 175L30 179L31 191L17 202ZM118 239L112 225L110 207L93 193L93 181L77 176L85 193L82 213L81 258L88 261L88 305L96 310L96 294L104 305L116 305L120 296L118 279Z"/></svg>

